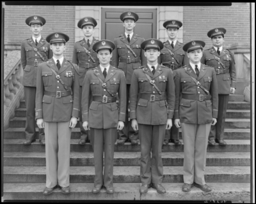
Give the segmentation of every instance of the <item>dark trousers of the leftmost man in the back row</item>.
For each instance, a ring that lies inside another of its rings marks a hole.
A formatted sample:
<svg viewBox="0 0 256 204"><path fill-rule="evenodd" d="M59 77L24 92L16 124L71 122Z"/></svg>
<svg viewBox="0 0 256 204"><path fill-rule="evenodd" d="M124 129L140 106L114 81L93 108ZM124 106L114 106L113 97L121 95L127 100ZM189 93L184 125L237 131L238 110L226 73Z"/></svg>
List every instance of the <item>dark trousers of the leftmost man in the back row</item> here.
<svg viewBox="0 0 256 204"><path fill-rule="evenodd" d="M24 96L26 103L26 126L25 135L26 140L36 139L36 119L35 119L35 108L36 108L36 87L24 87ZM39 128L39 140L45 140L44 128Z"/></svg>

